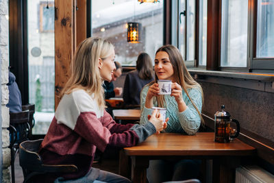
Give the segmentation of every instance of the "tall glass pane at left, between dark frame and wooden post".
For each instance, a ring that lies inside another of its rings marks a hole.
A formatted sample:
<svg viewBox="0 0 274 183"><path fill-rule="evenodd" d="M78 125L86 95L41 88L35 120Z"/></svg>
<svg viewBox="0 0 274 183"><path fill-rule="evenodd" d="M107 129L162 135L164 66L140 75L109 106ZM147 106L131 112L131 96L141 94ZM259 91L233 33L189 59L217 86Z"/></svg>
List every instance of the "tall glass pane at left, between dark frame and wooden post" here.
<svg viewBox="0 0 274 183"><path fill-rule="evenodd" d="M54 1L27 1L29 103L33 134L46 134L54 115Z"/></svg>

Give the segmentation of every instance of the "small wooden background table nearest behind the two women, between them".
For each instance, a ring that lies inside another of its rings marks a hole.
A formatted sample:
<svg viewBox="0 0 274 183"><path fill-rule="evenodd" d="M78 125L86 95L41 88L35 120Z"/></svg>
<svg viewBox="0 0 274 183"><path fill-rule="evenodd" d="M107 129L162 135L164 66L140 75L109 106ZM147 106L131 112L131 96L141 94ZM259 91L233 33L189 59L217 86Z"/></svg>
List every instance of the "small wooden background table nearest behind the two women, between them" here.
<svg viewBox="0 0 274 183"><path fill-rule="evenodd" d="M136 120L140 119L139 109L112 110L115 120Z"/></svg>

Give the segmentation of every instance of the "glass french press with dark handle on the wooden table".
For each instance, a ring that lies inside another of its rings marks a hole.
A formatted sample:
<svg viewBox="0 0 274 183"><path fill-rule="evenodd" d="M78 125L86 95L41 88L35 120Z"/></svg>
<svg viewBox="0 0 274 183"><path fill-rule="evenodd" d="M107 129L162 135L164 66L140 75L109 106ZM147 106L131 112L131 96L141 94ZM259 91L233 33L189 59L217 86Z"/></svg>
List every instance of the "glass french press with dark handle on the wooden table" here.
<svg viewBox="0 0 274 183"><path fill-rule="evenodd" d="M229 112L225 111L225 105L221 106L221 111L215 113L214 121L214 141L217 143L229 143L231 138L236 138L240 133L240 123L236 119L231 119ZM237 130L230 127L230 122L236 123Z"/></svg>

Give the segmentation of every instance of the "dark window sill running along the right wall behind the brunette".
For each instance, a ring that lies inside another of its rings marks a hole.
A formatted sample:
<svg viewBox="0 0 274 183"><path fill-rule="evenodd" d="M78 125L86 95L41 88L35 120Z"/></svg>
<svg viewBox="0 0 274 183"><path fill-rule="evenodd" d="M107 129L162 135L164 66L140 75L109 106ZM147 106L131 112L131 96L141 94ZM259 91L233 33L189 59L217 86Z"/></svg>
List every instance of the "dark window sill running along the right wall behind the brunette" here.
<svg viewBox="0 0 274 183"><path fill-rule="evenodd" d="M274 93L274 75L188 70L198 82L210 82Z"/></svg>

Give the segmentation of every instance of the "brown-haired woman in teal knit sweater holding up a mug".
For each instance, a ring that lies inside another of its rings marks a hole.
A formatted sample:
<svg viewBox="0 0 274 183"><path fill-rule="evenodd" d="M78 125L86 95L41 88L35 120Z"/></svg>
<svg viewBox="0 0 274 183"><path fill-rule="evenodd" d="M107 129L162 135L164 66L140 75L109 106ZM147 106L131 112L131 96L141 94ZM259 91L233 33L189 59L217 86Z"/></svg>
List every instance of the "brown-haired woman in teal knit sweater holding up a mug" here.
<svg viewBox="0 0 274 183"><path fill-rule="evenodd" d="M155 82L147 84L140 94L140 123L148 122L153 106L166 108L169 123L164 132L196 134L203 119L203 90L186 69L179 50L173 45L160 47L155 54ZM171 80L171 95L158 95L157 80ZM197 178L199 160L151 160L147 169L150 183Z"/></svg>

